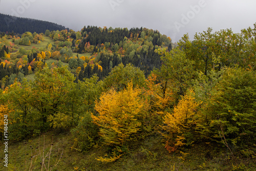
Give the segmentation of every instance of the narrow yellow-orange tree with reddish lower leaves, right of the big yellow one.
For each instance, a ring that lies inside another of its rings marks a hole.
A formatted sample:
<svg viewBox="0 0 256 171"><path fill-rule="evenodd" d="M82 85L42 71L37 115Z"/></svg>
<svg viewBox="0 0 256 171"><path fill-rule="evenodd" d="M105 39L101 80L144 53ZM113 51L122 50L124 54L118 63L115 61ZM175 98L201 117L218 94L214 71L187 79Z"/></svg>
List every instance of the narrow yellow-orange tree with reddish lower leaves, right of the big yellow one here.
<svg viewBox="0 0 256 171"><path fill-rule="evenodd" d="M198 107L200 104L201 102L195 99L194 91L189 90L174 107L174 112L166 113L164 116L162 128L166 133L162 135L166 139L165 147L169 152L185 144L189 145L195 140L194 134L199 122Z"/></svg>

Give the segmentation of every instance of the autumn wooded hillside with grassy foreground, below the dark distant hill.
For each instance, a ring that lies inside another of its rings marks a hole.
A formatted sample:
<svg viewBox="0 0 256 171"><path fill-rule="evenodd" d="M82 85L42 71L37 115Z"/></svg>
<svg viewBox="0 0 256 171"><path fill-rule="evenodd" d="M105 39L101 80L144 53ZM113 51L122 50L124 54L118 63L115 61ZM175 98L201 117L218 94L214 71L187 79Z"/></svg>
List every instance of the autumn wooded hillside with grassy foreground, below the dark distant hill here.
<svg viewBox="0 0 256 171"><path fill-rule="evenodd" d="M256 24L177 44L142 27L1 34L9 170L254 170Z"/></svg>

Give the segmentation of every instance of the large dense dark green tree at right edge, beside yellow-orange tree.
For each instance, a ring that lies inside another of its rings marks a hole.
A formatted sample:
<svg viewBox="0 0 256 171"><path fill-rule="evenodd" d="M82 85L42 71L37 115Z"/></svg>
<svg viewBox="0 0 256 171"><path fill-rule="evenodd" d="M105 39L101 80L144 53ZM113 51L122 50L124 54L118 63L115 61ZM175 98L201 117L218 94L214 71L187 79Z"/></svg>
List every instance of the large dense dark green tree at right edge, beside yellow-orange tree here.
<svg viewBox="0 0 256 171"><path fill-rule="evenodd" d="M208 104L212 138L237 147L255 142L255 71L229 68L214 88ZM246 146L244 146L246 147Z"/></svg>

